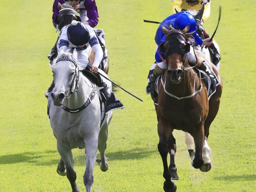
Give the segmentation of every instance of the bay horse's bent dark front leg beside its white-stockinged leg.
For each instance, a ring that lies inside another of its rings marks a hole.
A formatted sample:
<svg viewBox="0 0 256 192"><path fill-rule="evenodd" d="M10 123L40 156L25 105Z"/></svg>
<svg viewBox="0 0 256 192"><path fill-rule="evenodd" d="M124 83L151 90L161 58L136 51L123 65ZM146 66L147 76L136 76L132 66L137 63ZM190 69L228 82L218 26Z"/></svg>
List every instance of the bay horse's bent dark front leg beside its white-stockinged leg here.
<svg viewBox="0 0 256 192"><path fill-rule="evenodd" d="M204 163L202 158L202 148L204 144L204 122L201 122L196 127L196 131L192 135L195 142L195 158L192 161L192 166L198 169Z"/></svg>

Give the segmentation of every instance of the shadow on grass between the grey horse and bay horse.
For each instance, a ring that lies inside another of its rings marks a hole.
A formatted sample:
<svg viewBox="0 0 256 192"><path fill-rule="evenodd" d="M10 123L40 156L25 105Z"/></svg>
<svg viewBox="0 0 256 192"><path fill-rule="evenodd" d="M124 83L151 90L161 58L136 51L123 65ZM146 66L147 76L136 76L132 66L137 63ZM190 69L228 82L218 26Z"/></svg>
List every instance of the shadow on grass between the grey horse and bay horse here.
<svg viewBox="0 0 256 192"><path fill-rule="evenodd" d="M115 152L108 152L108 149L105 151L106 157L109 159L109 161L143 159L143 158L147 158L153 153L158 154L158 150L156 148L152 148L152 149L136 148L131 150L122 150L122 151L115 151ZM96 158L100 158L99 152ZM85 155L80 155L75 159L76 159L75 164L84 165Z"/></svg>

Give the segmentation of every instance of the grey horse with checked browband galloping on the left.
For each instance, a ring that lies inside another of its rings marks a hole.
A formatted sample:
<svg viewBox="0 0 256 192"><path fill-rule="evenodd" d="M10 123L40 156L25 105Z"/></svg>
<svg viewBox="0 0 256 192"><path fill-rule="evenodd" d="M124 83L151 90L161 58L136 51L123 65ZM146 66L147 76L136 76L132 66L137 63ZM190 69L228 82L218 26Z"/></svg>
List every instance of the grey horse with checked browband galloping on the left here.
<svg viewBox="0 0 256 192"><path fill-rule="evenodd" d="M76 50L71 52L69 50L59 53L52 65L55 87L49 98L52 99L49 110L50 124L61 156L57 172L62 176L67 175L72 192L79 192L79 188L76 185L71 150L85 144L86 169L83 182L86 192L91 192L97 148L100 151L100 159L97 159L100 169L104 172L108 170L105 149L112 112L106 114L101 125L97 88L79 71ZM107 76L101 70L100 72ZM112 89L111 83L106 83Z"/></svg>

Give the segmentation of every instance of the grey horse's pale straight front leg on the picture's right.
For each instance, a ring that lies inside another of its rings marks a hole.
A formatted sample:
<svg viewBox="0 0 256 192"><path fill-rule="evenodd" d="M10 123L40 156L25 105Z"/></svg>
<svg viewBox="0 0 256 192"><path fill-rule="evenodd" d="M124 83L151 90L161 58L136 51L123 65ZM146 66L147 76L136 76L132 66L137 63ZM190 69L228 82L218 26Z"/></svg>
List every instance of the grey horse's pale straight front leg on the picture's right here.
<svg viewBox="0 0 256 192"><path fill-rule="evenodd" d="M96 153L98 148L98 131L94 131L89 138L84 139L86 151L86 169L83 175L83 183L86 192L91 192L93 188L93 168L95 166Z"/></svg>

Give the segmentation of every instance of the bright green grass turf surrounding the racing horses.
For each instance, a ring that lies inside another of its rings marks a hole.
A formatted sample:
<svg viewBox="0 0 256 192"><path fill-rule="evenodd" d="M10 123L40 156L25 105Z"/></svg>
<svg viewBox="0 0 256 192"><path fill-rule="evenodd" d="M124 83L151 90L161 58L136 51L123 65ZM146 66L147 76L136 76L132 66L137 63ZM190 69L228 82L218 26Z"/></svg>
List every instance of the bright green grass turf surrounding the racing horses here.
<svg viewBox="0 0 256 192"><path fill-rule="evenodd" d="M0 191L71 191L56 173L59 155L46 116L44 92L52 81L46 58L57 35L51 23L53 0L3 1L0 11ZM144 99L123 91L125 105L109 126L108 172L96 165L94 192L163 191L163 168L157 144L153 102L145 94L147 74L154 62L154 35L172 14L170 0L98 0L100 22L109 50L109 76ZM224 83L221 107L210 128L213 167L202 173L190 164L184 133L175 131L178 192L255 192L255 72L256 2L212 0L204 26L210 34L222 17L215 40L221 48ZM74 149L77 183L85 191L84 151Z"/></svg>

